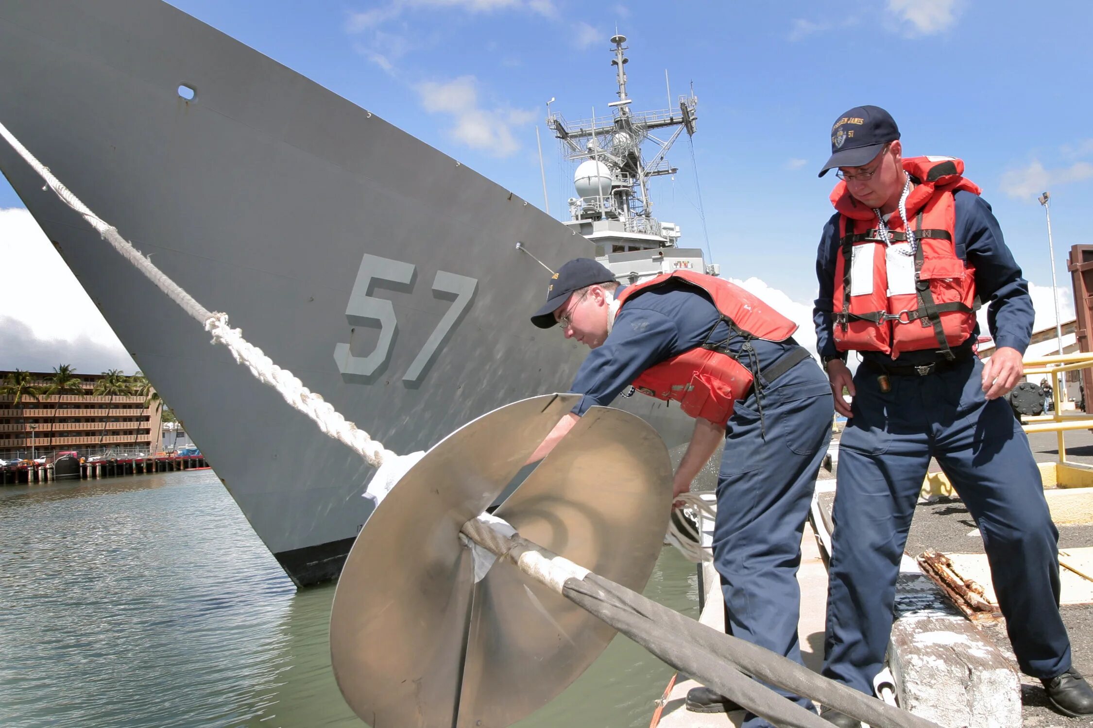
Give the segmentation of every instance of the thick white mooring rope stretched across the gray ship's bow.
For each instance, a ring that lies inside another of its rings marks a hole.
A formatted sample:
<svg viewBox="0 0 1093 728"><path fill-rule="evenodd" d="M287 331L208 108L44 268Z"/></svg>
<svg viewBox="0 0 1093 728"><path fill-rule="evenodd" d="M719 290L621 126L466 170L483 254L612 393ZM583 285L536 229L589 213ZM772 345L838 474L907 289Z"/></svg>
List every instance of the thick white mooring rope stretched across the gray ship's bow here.
<svg viewBox="0 0 1093 728"><path fill-rule="evenodd" d="M3 123L0 123L0 136L3 136L12 148L46 181L64 204L80 213L95 230L117 250L122 258L132 263L149 281L154 283L167 297L178 303L184 311L196 319L205 331L212 334L213 343L227 347L239 363L246 365L260 381L275 389L292 407L304 413L319 426L319 429L348 445L353 452L364 457L374 467L383 465L384 460L395 455L380 443L373 440L367 432L357 428L342 417L322 396L312 392L291 371L273 363L260 348L243 338L243 332L227 324L227 314L213 312L201 306L192 296L183 290L178 284L157 268L152 261L142 255L132 243L122 238L117 228L108 225L98 215L83 204L71 190L54 176L49 168L43 165ZM45 188L43 188L45 189Z"/></svg>

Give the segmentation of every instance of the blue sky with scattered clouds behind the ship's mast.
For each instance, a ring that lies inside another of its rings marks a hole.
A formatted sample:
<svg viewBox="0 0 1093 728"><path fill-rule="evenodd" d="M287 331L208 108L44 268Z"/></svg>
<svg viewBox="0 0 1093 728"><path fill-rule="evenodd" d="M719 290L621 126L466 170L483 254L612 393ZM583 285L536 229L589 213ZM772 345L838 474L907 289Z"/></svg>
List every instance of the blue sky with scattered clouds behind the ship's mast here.
<svg viewBox="0 0 1093 728"><path fill-rule="evenodd" d="M542 206L534 126L551 211L573 165L543 123L607 112L609 38L628 37L635 109L694 84L694 159L684 136L655 183L658 217L682 244L807 307L831 214L827 130L860 104L889 109L907 155L962 157L1037 286L1050 285L1044 210L1051 192L1057 271L1090 236L1093 193L1086 43L1093 3L986 0L612 2L575 0L177 0L173 4L309 76ZM697 168L695 168L697 167ZM22 206L0 180L0 207ZM1044 291L1042 291L1044 293ZM1050 301L1047 291L1048 302ZM1039 298L1036 299L1039 302ZM1049 307L1048 307L1049 308ZM1041 321L1037 322L1038 324Z"/></svg>

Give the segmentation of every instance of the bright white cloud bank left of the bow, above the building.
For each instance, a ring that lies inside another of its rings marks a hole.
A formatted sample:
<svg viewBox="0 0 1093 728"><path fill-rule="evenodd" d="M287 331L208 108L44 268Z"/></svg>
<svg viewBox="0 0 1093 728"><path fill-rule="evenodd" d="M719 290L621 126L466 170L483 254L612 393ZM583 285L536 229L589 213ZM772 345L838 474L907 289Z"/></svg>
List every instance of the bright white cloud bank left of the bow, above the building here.
<svg viewBox="0 0 1093 728"><path fill-rule="evenodd" d="M0 369L137 369L31 213L0 210ZM43 282L48 281L48 285Z"/></svg>

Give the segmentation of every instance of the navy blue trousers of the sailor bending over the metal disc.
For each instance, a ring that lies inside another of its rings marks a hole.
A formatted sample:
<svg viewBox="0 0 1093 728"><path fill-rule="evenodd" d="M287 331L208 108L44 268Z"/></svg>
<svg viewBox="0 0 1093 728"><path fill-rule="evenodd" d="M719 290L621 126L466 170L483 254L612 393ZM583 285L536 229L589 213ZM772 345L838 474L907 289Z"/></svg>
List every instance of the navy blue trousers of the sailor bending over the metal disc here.
<svg viewBox="0 0 1093 728"><path fill-rule="evenodd" d="M820 463L831 441L827 377L807 359L753 393L729 419L717 481L714 565L729 634L801 661L797 569ZM764 437L765 430L765 437ZM806 699L779 691L812 708ZM769 726L749 714L748 728Z"/></svg>

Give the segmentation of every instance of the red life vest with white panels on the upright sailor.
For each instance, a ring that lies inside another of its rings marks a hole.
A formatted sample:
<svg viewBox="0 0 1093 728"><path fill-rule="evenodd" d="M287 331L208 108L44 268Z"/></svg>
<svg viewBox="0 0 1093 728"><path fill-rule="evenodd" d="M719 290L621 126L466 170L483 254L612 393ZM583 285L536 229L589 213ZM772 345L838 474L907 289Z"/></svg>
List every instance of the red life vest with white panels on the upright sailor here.
<svg viewBox="0 0 1093 728"><path fill-rule="evenodd" d="M839 351L903 351L936 348L951 357L975 327L975 268L956 255L953 193L979 187L964 179L964 163L952 157L912 157L903 168L916 187L905 207L906 223L891 216L885 247L877 215L839 182L831 193L839 218L833 296L835 347Z"/></svg>

